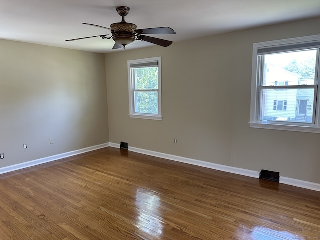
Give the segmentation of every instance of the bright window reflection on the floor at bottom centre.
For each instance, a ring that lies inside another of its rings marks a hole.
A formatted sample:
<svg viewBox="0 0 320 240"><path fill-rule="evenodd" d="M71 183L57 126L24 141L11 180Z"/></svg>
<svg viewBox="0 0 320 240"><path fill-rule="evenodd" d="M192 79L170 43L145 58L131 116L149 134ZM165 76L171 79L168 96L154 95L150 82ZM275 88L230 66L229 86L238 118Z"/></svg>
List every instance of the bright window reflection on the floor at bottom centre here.
<svg viewBox="0 0 320 240"><path fill-rule="evenodd" d="M135 205L138 208L138 225L141 230L154 237L162 234L163 224L161 216L161 199L152 191L138 188L135 194Z"/></svg>

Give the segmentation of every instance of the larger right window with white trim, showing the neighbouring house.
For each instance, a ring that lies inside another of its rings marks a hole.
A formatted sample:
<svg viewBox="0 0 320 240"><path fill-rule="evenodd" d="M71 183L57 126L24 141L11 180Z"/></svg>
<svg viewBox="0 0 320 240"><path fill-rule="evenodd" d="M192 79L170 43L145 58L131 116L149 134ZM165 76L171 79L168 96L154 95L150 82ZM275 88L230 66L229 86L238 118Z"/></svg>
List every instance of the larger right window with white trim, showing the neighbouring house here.
<svg viewBox="0 0 320 240"><path fill-rule="evenodd" d="M320 35L253 44L250 127L319 132Z"/></svg>

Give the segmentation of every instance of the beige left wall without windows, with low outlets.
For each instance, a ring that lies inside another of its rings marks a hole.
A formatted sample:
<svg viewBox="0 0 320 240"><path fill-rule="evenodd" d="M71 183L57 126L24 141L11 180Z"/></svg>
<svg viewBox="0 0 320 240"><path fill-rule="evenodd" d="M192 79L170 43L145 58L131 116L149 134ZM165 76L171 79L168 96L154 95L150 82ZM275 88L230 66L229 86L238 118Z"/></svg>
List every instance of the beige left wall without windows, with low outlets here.
<svg viewBox="0 0 320 240"><path fill-rule="evenodd" d="M0 40L0 167L107 142L104 54Z"/></svg>

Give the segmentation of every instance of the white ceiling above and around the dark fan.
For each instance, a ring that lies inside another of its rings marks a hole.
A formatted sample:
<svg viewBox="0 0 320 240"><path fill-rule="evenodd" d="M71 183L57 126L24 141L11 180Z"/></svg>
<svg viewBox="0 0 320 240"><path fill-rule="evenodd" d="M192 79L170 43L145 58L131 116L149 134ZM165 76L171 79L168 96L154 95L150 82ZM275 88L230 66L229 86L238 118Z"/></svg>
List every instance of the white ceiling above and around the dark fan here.
<svg viewBox="0 0 320 240"><path fill-rule="evenodd" d="M120 22L115 8L128 6L127 22L137 28L169 26L175 35L154 37L183 41L261 25L320 16L320 0L0 0L0 38L92 52L114 52L112 39L100 37ZM174 44L174 43L173 43ZM135 41L128 49L150 46Z"/></svg>

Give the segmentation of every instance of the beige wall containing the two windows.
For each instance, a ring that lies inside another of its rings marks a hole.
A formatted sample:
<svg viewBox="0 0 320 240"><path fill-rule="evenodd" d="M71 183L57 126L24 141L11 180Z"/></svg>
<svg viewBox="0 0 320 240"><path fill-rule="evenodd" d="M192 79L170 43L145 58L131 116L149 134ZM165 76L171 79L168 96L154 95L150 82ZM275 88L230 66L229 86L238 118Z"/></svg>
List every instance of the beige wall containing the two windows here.
<svg viewBox="0 0 320 240"><path fill-rule="evenodd" d="M319 25L313 18L106 54L110 142L320 183L320 134L248 125L252 44L320 34ZM129 118L127 60L155 56L163 120Z"/></svg>

